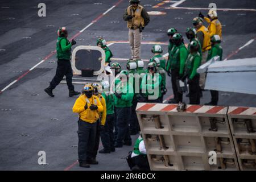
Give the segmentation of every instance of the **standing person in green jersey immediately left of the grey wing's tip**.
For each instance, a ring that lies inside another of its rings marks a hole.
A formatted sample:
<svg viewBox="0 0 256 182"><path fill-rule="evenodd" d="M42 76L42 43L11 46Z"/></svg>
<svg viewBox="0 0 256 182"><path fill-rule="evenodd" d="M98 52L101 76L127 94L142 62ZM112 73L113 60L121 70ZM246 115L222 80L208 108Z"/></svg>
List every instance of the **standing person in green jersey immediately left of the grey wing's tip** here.
<svg viewBox="0 0 256 182"><path fill-rule="evenodd" d="M185 72L181 80L188 79L189 85L189 104L200 104L200 86L199 79L200 74L196 72L197 68L201 64L201 55L199 53L200 46L195 41L189 44L189 55L185 62Z"/></svg>

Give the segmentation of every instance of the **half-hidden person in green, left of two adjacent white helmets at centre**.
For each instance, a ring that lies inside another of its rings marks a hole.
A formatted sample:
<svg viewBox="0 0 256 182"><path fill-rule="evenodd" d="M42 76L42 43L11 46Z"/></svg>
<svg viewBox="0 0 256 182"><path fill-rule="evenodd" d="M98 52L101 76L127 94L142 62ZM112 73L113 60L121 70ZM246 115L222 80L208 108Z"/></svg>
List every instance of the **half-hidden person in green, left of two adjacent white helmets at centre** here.
<svg viewBox="0 0 256 182"><path fill-rule="evenodd" d="M136 114L137 94L139 93L139 74L137 73L137 63L133 59L129 59L126 63L126 68L129 71L129 82L133 85L134 96L131 106L131 117L129 118L130 135L137 135L139 133L139 121ZM138 86L136 86L138 85ZM137 90L135 90L137 89Z"/></svg>

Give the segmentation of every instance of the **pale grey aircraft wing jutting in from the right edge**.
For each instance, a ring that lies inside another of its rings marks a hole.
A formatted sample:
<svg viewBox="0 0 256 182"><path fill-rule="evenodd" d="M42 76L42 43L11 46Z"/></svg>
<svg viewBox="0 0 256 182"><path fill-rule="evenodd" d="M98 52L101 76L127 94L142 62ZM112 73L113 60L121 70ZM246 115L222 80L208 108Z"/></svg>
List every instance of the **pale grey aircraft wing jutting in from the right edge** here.
<svg viewBox="0 0 256 182"><path fill-rule="evenodd" d="M205 89L256 94L256 57L218 61L213 57L198 73L207 73Z"/></svg>

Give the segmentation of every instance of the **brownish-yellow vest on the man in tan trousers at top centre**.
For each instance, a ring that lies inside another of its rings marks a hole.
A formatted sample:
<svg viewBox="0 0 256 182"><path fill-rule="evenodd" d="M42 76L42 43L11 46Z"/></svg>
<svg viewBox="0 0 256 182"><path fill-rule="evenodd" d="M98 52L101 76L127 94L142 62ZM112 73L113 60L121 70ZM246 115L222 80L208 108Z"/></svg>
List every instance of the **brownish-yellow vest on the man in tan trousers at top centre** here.
<svg viewBox="0 0 256 182"><path fill-rule="evenodd" d="M145 26L144 19L141 16L142 9L143 9L143 6L141 6L141 5L138 5L138 7L135 10L135 12L134 12L132 6L129 6L127 8L127 14L134 16L131 20L127 21L127 27L128 28L137 29L140 26L142 26L142 27Z"/></svg>

